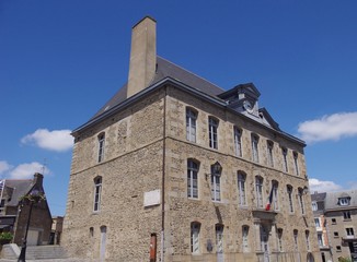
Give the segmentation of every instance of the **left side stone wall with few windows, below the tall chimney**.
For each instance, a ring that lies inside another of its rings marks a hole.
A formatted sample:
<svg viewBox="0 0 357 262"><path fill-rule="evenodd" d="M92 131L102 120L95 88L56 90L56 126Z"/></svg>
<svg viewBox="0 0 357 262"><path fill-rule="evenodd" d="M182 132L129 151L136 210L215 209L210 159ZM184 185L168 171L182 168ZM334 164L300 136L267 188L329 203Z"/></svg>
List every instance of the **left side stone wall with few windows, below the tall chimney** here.
<svg viewBox="0 0 357 262"><path fill-rule="evenodd" d="M145 207L143 193L162 188L162 116L163 99L153 94L77 138L62 235L71 255L100 259L105 226L105 261L148 260L150 236L161 234L161 206ZM97 163L101 132L105 156ZM97 176L101 210L93 212Z"/></svg>

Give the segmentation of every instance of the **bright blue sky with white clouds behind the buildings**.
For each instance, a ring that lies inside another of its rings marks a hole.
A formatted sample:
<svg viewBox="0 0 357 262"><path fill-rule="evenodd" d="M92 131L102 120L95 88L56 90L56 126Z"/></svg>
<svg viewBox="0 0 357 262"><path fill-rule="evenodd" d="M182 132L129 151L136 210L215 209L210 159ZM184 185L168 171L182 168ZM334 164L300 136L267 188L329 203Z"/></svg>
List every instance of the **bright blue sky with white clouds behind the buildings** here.
<svg viewBox="0 0 357 262"><path fill-rule="evenodd" d="M255 84L307 141L312 191L357 188L356 12L355 0L1 0L0 176L44 172L65 214L69 133L127 81L131 27L151 15L159 56L224 90Z"/></svg>

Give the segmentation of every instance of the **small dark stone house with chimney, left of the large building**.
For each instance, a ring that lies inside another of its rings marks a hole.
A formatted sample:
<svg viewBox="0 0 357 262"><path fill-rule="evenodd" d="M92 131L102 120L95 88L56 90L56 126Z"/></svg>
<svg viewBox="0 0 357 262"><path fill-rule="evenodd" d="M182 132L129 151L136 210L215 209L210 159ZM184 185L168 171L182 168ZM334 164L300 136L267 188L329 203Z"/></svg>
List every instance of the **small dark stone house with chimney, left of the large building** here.
<svg viewBox="0 0 357 262"><path fill-rule="evenodd" d="M36 187L45 192L44 176L36 172L34 179L5 179L1 181L0 231L13 234L12 242L22 246L30 206L23 204L23 196ZM46 200L33 205L27 234L27 245L47 245L51 230L51 215Z"/></svg>

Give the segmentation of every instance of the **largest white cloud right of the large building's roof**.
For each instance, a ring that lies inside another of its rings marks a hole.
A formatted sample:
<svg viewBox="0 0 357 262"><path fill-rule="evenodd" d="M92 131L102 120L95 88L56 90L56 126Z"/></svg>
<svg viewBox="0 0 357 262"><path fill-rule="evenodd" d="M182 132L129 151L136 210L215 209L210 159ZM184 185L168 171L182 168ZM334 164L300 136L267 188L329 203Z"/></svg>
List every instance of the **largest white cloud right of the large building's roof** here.
<svg viewBox="0 0 357 262"><path fill-rule="evenodd" d="M308 143L357 136L357 112L338 112L299 123L300 138Z"/></svg>

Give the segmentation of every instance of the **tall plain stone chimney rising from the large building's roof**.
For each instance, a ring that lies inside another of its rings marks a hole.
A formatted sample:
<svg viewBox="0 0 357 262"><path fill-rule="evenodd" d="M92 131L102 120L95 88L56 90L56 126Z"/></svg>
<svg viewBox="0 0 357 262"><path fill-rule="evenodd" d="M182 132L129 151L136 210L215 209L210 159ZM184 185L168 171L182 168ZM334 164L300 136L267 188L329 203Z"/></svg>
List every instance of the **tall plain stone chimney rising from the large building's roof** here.
<svg viewBox="0 0 357 262"><path fill-rule="evenodd" d="M148 87L157 67L157 22L143 17L133 27L127 97Z"/></svg>

